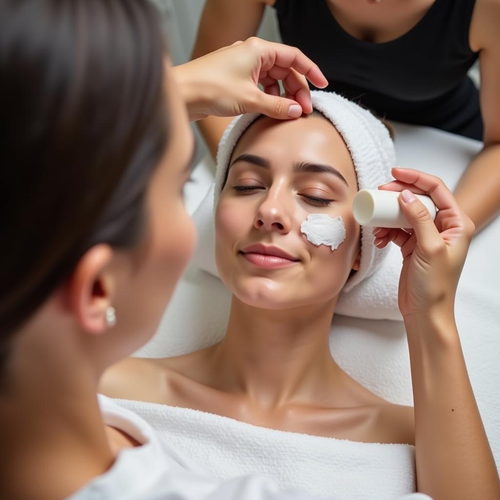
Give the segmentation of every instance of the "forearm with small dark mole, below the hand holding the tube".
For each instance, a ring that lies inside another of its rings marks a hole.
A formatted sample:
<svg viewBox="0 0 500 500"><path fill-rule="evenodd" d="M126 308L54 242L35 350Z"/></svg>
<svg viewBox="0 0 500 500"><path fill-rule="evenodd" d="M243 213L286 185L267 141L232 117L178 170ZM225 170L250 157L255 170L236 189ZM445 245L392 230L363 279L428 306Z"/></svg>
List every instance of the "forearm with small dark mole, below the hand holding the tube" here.
<svg viewBox="0 0 500 500"><path fill-rule="evenodd" d="M500 481L453 319L405 319L418 491L434 500L497 500Z"/></svg>

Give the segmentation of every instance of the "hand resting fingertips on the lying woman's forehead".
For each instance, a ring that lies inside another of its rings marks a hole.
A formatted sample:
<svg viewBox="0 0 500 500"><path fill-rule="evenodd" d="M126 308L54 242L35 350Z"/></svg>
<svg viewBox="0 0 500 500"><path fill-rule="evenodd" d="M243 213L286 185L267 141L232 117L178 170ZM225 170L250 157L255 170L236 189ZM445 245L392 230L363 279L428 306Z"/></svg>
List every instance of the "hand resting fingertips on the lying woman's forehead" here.
<svg viewBox="0 0 500 500"><path fill-rule="evenodd" d="M175 66L174 73L190 119L246 112L296 118L312 110L307 80L320 88L328 84L298 48L254 36ZM279 95L278 80L284 97Z"/></svg>

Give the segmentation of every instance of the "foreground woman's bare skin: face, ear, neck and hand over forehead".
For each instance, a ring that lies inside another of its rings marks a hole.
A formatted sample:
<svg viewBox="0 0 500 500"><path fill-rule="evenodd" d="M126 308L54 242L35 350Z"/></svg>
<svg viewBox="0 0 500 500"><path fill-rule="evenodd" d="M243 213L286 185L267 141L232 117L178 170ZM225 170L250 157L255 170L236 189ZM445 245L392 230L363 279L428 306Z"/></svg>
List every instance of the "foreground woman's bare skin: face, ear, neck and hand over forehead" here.
<svg viewBox="0 0 500 500"><path fill-rule="evenodd" d="M240 58L232 65L235 56ZM128 250L89 248L15 333L2 372L8 390L0 396L0 427L8 432L1 435L1 498L64 498L108 470L121 449L137 445L104 425L96 392L102 372L153 335L193 249L194 227L182 199L194 144L188 115L205 113L207 98L215 103L206 113L230 114L249 102L265 113L264 92L254 89L249 100L233 88L254 81L273 61L321 84L317 66L282 45L251 40L204 60L218 74L216 85L195 62L172 70L165 61L170 141L148 185L143 239ZM117 315L112 328L105 320L110 305Z"/></svg>

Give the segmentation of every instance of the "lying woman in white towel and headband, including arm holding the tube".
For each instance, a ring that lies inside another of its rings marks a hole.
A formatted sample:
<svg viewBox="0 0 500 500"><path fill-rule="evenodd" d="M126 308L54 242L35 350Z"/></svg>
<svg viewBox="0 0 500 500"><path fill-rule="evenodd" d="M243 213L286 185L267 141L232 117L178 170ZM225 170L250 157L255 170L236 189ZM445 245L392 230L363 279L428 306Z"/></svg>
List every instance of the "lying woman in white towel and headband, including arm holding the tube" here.
<svg viewBox="0 0 500 500"><path fill-rule="evenodd" d="M221 478L264 472L281 487L353 500L477 497L498 478L453 315L472 223L436 177L393 168L389 182L392 141L367 110L325 92L312 103L296 120L242 115L219 144L216 260L232 292L224 338L129 358L101 390ZM355 222L357 190L384 183L402 191L414 232ZM432 197L435 224L409 189ZM390 241L404 257L414 408L363 387L328 344L340 290L373 273Z"/></svg>

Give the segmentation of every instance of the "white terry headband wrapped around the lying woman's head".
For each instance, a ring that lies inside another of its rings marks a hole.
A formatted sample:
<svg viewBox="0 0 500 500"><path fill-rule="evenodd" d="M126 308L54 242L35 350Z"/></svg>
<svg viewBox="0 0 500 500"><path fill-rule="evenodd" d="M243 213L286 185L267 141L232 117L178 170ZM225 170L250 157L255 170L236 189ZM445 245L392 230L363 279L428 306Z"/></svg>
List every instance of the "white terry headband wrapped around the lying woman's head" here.
<svg viewBox="0 0 500 500"><path fill-rule="evenodd" d="M322 90L311 91L312 107L328 118L342 136L356 170L359 189L374 189L391 180L390 169L395 165L392 139L385 125L367 109L346 98ZM232 151L243 132L260 116L242 114L225 129L217 150L214 206L217 205L229 166ZM389 249L376 248L370 227L361 227L361 259L359 270L349 277L342 288L348 292L378 269Z"/></svg>

